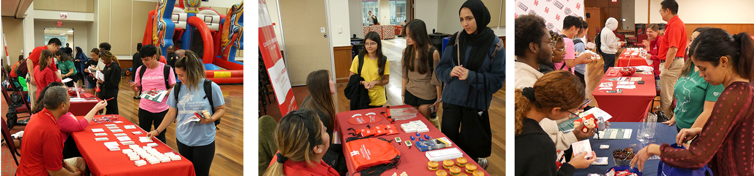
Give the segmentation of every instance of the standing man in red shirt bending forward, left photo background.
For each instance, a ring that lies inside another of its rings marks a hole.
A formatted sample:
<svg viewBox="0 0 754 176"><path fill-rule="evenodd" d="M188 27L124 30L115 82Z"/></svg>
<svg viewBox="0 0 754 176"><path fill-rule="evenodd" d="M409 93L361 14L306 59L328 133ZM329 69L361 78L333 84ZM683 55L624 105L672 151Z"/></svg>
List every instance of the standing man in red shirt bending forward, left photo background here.
<svg viewBox="0 0 754 176"><path fill-rule="evenodd" d="M48 45L44 45L44 46L40 46L40 47L34 48L34 50L32 51L32 53L29 54L29 60L32 60L32 62L26 62L26 68L33 69L35 66L39 65L39 55L41 54L42 50L49 50L52 53L55 53L55 52L57 52L58 49L60 49L60 45L62 45L60 43L60 39L53 38L53 39L50 39L50 41L48 42ZM63 76L60 76L60 73L57 73L57 66L56 66L56 64L51 64L51 65L52 65L52 68L53 68L52 70L57 75L57 78L58 79L63 79ZM34 72L29 71L29 78L27 78L26 80L29 80L29 81L26 82L26 84L28 85L27 87L29 88L29 92L37 92L37 85L34 82ZM37 101L37 94L36 93L29 94L29 97L31 97L30 98L31 99L30 103L31 103L32 107L34 107L34 105L36 104L36 101Z"/></svg>

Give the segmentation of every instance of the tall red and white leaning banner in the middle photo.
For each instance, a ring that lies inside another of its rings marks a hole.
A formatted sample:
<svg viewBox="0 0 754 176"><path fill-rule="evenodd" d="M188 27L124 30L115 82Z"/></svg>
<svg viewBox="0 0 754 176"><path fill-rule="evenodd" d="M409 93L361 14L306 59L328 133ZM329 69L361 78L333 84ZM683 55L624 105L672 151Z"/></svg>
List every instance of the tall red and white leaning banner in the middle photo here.
<svg viewBox="0 0 754 176"><path fill-rule="evenodd" d="M293 97L293 89L290 88L288 69L280 55L280 47L277 46L277 37L265 0L259 0L259 54L265 61L277 104L280 106L280 114L285 116L290 111L298 110L296 97Z"/></svg>

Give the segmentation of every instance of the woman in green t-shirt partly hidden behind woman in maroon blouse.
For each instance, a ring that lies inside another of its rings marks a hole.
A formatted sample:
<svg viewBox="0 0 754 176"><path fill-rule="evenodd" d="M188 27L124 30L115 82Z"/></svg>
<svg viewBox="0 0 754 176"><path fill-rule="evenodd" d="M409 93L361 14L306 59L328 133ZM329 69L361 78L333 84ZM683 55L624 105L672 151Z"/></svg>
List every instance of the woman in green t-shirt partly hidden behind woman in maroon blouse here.
<svg viewBox="0 0 754 176"><path fill-rule="evenodd" d="M710 27L700 27L691 33L691 42L701 32ZM673 97L676 98L675 116L664 124L676 124L676 129L702 127L712 113L712 109L724 87L722 85L710 85L699 76L699 68L691 61L686 62L681 71L681 76L674 87Z"/></svg>

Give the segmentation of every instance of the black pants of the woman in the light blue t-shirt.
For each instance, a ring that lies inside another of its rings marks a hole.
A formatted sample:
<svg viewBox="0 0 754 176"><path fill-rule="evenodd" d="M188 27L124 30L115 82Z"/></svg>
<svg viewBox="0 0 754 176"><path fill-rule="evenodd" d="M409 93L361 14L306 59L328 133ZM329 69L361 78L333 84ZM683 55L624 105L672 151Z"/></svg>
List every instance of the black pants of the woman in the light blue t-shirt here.
<svg viewBox="0 0 754 176"><path fill-rule="evenodd" d="M194 171L197 176L210 175L210 166L212 159L215 158L215 142L213 141L206 146L190 147L176 139L178 144L178 153L194 163Z"/></svg>

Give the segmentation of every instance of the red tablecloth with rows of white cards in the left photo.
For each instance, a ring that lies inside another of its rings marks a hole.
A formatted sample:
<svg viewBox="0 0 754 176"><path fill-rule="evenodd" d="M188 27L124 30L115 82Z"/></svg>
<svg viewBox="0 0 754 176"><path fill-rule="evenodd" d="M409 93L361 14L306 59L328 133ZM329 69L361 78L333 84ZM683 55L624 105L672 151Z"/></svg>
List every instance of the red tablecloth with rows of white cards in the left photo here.
<svg viewBox="0 0 754 176"><path fill-rule="evenodd" d="M97 118L101 116L94 117ZM84 116L76 116L76 118L81 119L84 118ZM81 152L81 156L84 156L84 160L87 162L87 168L89 168L93 175L196 175L192 162L185 159L183 156L181 156L181 160L178 161L163 162L155 165L147 162L146 165L136 166L133 165L133 161L130 161L128 156L121 153L120 150L108 150L107 147L105 147L105 142L118 141L118 144L120 144L120 141L116 139L113 133L105 126L106 124L118 125L118 128L123 130L122 133L127 134L127 136L131 138L131 141L136 145L142 147L146 146L146 143L139 142L139 137L146 136L146 131L139 128L139 125L135 125L135 129L124 128L125 125L133 125L133 123L129 122L128 119L125 119L122 116L118 116L118 121L121 121L122 123L91 122L84 131L72 133L73 140L76 141L76 145L78 146L78 151ZM94 140L95 136L91 131L92 128L103 128L105 130L103 133L107 133L107 135L101 137L107 137L109 140ZM136 135L131 133L133 131L142 131L143 134ZM158 144L158 147L153 148L160 151L160 153L173 152L180 156L177 151L167 147L167 145L160 140L157 140L156 137L152 137L152 140L154 143ZM121 147L121 150L128 148L127 145L120 145L118 147Z"/></svg>

